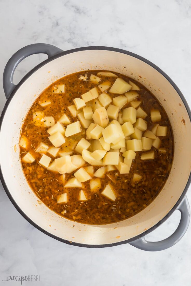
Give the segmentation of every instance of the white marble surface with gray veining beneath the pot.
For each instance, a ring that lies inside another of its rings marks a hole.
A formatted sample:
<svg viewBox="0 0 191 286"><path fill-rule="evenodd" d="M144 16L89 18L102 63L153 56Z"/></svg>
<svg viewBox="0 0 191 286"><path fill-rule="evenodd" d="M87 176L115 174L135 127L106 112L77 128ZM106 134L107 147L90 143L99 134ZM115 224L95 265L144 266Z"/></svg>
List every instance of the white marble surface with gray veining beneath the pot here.
<svg viewBox="0 0 191 286"><path fill-rule="evenodd" d="M103 45L137 53L161 67L191 104L190 0L0 0L0 26L0 111L6 62L21 47L39 42L64 50ZM15 72L15 83L45 58L25 59ZM191 203L190 190L188 198ZM148 237L168 237L179 219L174 212ZM5 276L31 274L40 275L39 285L189 286L190 237L191 226L174 247L157 253L130 245L72 247L32 227L0 188L0 285L20 285L2 282Z"/></svg>

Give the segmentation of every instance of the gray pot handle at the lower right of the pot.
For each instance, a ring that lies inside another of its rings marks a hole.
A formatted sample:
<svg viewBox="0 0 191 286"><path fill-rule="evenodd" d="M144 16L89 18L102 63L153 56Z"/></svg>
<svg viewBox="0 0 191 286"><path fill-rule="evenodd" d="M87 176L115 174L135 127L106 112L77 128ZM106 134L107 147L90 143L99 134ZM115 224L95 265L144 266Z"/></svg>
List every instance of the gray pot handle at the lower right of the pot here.
<svg viewBox="0 0 191 286"><path fill-rule="evenodd" d="M186 233L190 222L190 206L187 197L184 198L177 210L181 212L180 223L170 237L156 242L147 241L145 237L141 237L129 244L145 251L160 251L175 245Z"/></svg>

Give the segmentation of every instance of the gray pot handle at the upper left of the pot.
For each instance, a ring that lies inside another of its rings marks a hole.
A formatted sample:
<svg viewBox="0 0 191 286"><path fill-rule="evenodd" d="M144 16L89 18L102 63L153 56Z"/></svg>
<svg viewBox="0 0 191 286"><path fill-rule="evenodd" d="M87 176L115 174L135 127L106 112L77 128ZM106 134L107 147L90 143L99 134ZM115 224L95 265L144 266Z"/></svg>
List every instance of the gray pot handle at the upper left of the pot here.
<svg viewBox="0 0 191 286"><path fill-rule="evenodd" d="M22 49L18 50L14 55L12 55L12 57L7 62L3 73L3 89L6 98L9 98L11 92L16 87L15 84L13 84L13 74L17 65L23 59L25 59L29 55L34 55L37 53L45 53L48 55L48 57L52 57L53 55L56 55L61 52L61 49L53 45L39 43L23 47Z"/></svg>

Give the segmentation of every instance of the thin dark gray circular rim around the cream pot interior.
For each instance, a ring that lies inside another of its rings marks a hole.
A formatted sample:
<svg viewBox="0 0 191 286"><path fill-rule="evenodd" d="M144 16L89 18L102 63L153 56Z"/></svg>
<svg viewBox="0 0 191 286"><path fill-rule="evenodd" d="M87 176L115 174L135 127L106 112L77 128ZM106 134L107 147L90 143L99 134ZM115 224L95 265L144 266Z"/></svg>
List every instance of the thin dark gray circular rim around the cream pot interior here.
<svg viewBox="0 0 191 286"><path fill-rule="evenodd" d="M159 67L157 67L154 63L152 63L151 61L145 59L144 57L141 57L135 53L129 52L129 51L125 51L123 49L119 49L119 48L114 48L114 47L104 47L104 46L91 46L91 47L81 47L81 48L76 48L76 49L70 49L67 51L63 51L57 55L54 55L52 57L49 57L48 59L46 59L45 61L43 61L42 63L36 65L36 67L34 67L33 69L31 69L31 71L29 71L22 79L21 81L17 84L17 86L14 88L14 90L11 92L9 98L7 99L5 106L3 108L3 111L1 113L1 117L0 117L0 132L1 132L1 125L3 122L3 118L5 116L5 112L7 110L7 107L9 106L9 103L11 102L11 99L13 98L14 94L16 93L16 91L20 88L20 86L23 84L23 82L25 82L25 80L27 80L32 74L34 74L34 72L36 72L40 67L46 65L46 63L49 63L50 61L57 59L58 57L62 57L63 55L68 55L70 53L75 53L78 51L87 51L87 50L105 50L105 51L115 51L118 53L123 53L126 55L130 55L132 57L135 57L145 63L147 63L148 65L150 65L151 67L153 67L154 69L156 69L160 74L162 74L162 76L164 76L166 78L166 80L168 80L168 82L174 87L174 89L176 90L176 92L178 93L178 95L180 96L180 98L182 99L182 102L184 103L184 106L188 112L188 116L190 118L190 122L191 122L191 111L190 108L188 106L188 103L186 102L186 99L184 98L182 92L180 91L180 89L178 88L178 86L176 86L176 84L173 82L173 80L165 73L162 71L162 69L160 69ZM162 223L164 223L164 221L166 221L171 215L172 213L176 210L176 208L178 207L178 205L180 204L180 202L183 200L184 196L186 195L186 192L188 190L188 187L191 183L191 172L188 178L188 181L186 183L186 186L180 196L180 198L178 199L178 201L176 202L176 204L173 206L173 208L166 214L166 216L160 220L157 224L155 224L153 227L151 227L150 229L144 231L143 233L141 233L140 235L137 235L135 237L132 237L131 239L127 239L124 241L120 241L120 242L116 242L116 243L109 243L109 244L100 244L100 245L89 245L89 244L83 244L83 243L75 243L75 242L71 242L65 239L62 239L60 237L57 237L56 235L53 235L51 233L49 233L48 231L45 231L44 229L42 229L39 225L37 225L36 223L34 223L24 212L23 210L21 210L21 208L19 207L19 205L15 202L15 200L13 199L13 197L11 196L11 193L9 192L9 189L7 188L7 185L5 183L5 180L3 178L3 173L1 170L1 164L0 164L0 180L1 183L3 185L3 188L7 194L7 196L9 197L10 201L12 202L13 206L15 206L15 208L17 209L17 211L34 227L36 227L36 229L40 230L42 233L45 233L46 235L64 242L66 244L69 245L75 245L75 246L80 246L80 247L89 247L89 248L101 248L101 247L111 247L111 246L115 246L115 245L121 245L121 244L126 244L126 243L130 243L132 241L135 241L145 235L147 235L148 233L150 233L151 231L155 230L157 227L159 227Z"/></svg>

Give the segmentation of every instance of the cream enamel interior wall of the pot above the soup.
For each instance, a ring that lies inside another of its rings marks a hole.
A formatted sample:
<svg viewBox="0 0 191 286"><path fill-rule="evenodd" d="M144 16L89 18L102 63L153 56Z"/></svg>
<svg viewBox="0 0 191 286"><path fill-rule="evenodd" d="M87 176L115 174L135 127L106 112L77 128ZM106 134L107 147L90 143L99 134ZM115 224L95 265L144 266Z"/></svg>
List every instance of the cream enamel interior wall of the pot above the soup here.
<svg viewBox="0 0 191 286"><path fill-rule="evenodd" d="M31 191L23 175L18 148L22 122L40 93L55 80L87 69L121 72L139 80L164 106L172 124L175 140L172 170L157 198L134 217L119 223L101 226L68 221L42 204ZM116 51L77 51L46 63L31 74L15 92L2 122L0 164L11 196L27 217L42 229L76 243L110 244L143 233L158 223L172 209L181 196L190 175L190 142L191 125L186 108L176 90L156 69L135 57Z"/></svg>

